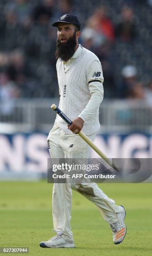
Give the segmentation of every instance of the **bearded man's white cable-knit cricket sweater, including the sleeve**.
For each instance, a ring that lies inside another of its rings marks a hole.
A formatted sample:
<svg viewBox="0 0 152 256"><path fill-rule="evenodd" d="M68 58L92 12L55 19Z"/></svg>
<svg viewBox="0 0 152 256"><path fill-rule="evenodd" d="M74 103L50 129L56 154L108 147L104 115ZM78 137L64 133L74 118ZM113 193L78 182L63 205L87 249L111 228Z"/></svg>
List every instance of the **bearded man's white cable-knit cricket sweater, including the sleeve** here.
<svg viewBox="0 0 152 256"><path fill-rule="evenodd" d="M85 123L82 131L86 135L96 133L100 128L99 106L103 100L103 75L99 59L81 45L69 61L57 60L57 79L60 92L59 108L70 120L82 118ZM67 134L67 129L60 116L55 123Z"/></svg>

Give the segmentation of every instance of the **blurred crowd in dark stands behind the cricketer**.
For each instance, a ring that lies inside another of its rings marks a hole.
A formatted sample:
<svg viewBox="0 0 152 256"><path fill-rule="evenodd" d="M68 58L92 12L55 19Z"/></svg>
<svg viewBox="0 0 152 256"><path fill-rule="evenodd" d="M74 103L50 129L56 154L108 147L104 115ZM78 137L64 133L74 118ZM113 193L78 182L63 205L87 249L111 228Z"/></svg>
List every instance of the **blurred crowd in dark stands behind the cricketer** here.
<svg viewBox="0 0 152 256"><path fill-rule="evenodd" d="M80 43L102 63L105 98L152 100L152 0L1 2L0 101L58 96L51 24L65 13L80 18Z"/></svg>

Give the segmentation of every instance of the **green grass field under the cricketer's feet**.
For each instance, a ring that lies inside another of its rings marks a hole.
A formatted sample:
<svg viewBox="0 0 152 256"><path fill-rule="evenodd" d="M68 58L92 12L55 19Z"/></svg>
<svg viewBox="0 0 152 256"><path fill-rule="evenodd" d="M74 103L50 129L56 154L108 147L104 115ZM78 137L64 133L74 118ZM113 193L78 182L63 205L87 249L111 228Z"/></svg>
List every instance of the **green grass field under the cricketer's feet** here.
<svg viewBox="0 0 152 256"><path fill-rule="evenodd" d="M28 255L35 256L152 256L152 184L99 186L126 208L127 235L120 245L113 244L97 207L73 192L71 225L77 247L40 248L40 241L55 236L52 184L41 181L0 182L0 247L29 247Z"/></svg>

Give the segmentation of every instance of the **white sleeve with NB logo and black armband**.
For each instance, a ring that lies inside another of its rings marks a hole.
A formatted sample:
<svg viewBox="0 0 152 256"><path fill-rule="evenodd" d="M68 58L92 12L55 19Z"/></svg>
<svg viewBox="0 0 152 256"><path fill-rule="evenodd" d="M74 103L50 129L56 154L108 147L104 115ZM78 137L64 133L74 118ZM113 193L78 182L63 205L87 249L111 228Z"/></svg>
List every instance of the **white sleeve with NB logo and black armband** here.
<svg viewBox="0 0 152 256"><path fill-rule="evenodd" d="M91 98L88 101L85 109L80 113L80 115L78 115L78 117L82 118L84 121L86 121L88 118L92 118L103 100L103 80L100 61L94 60L90 64L87 73L87 84L90 90Z"/></svg>

